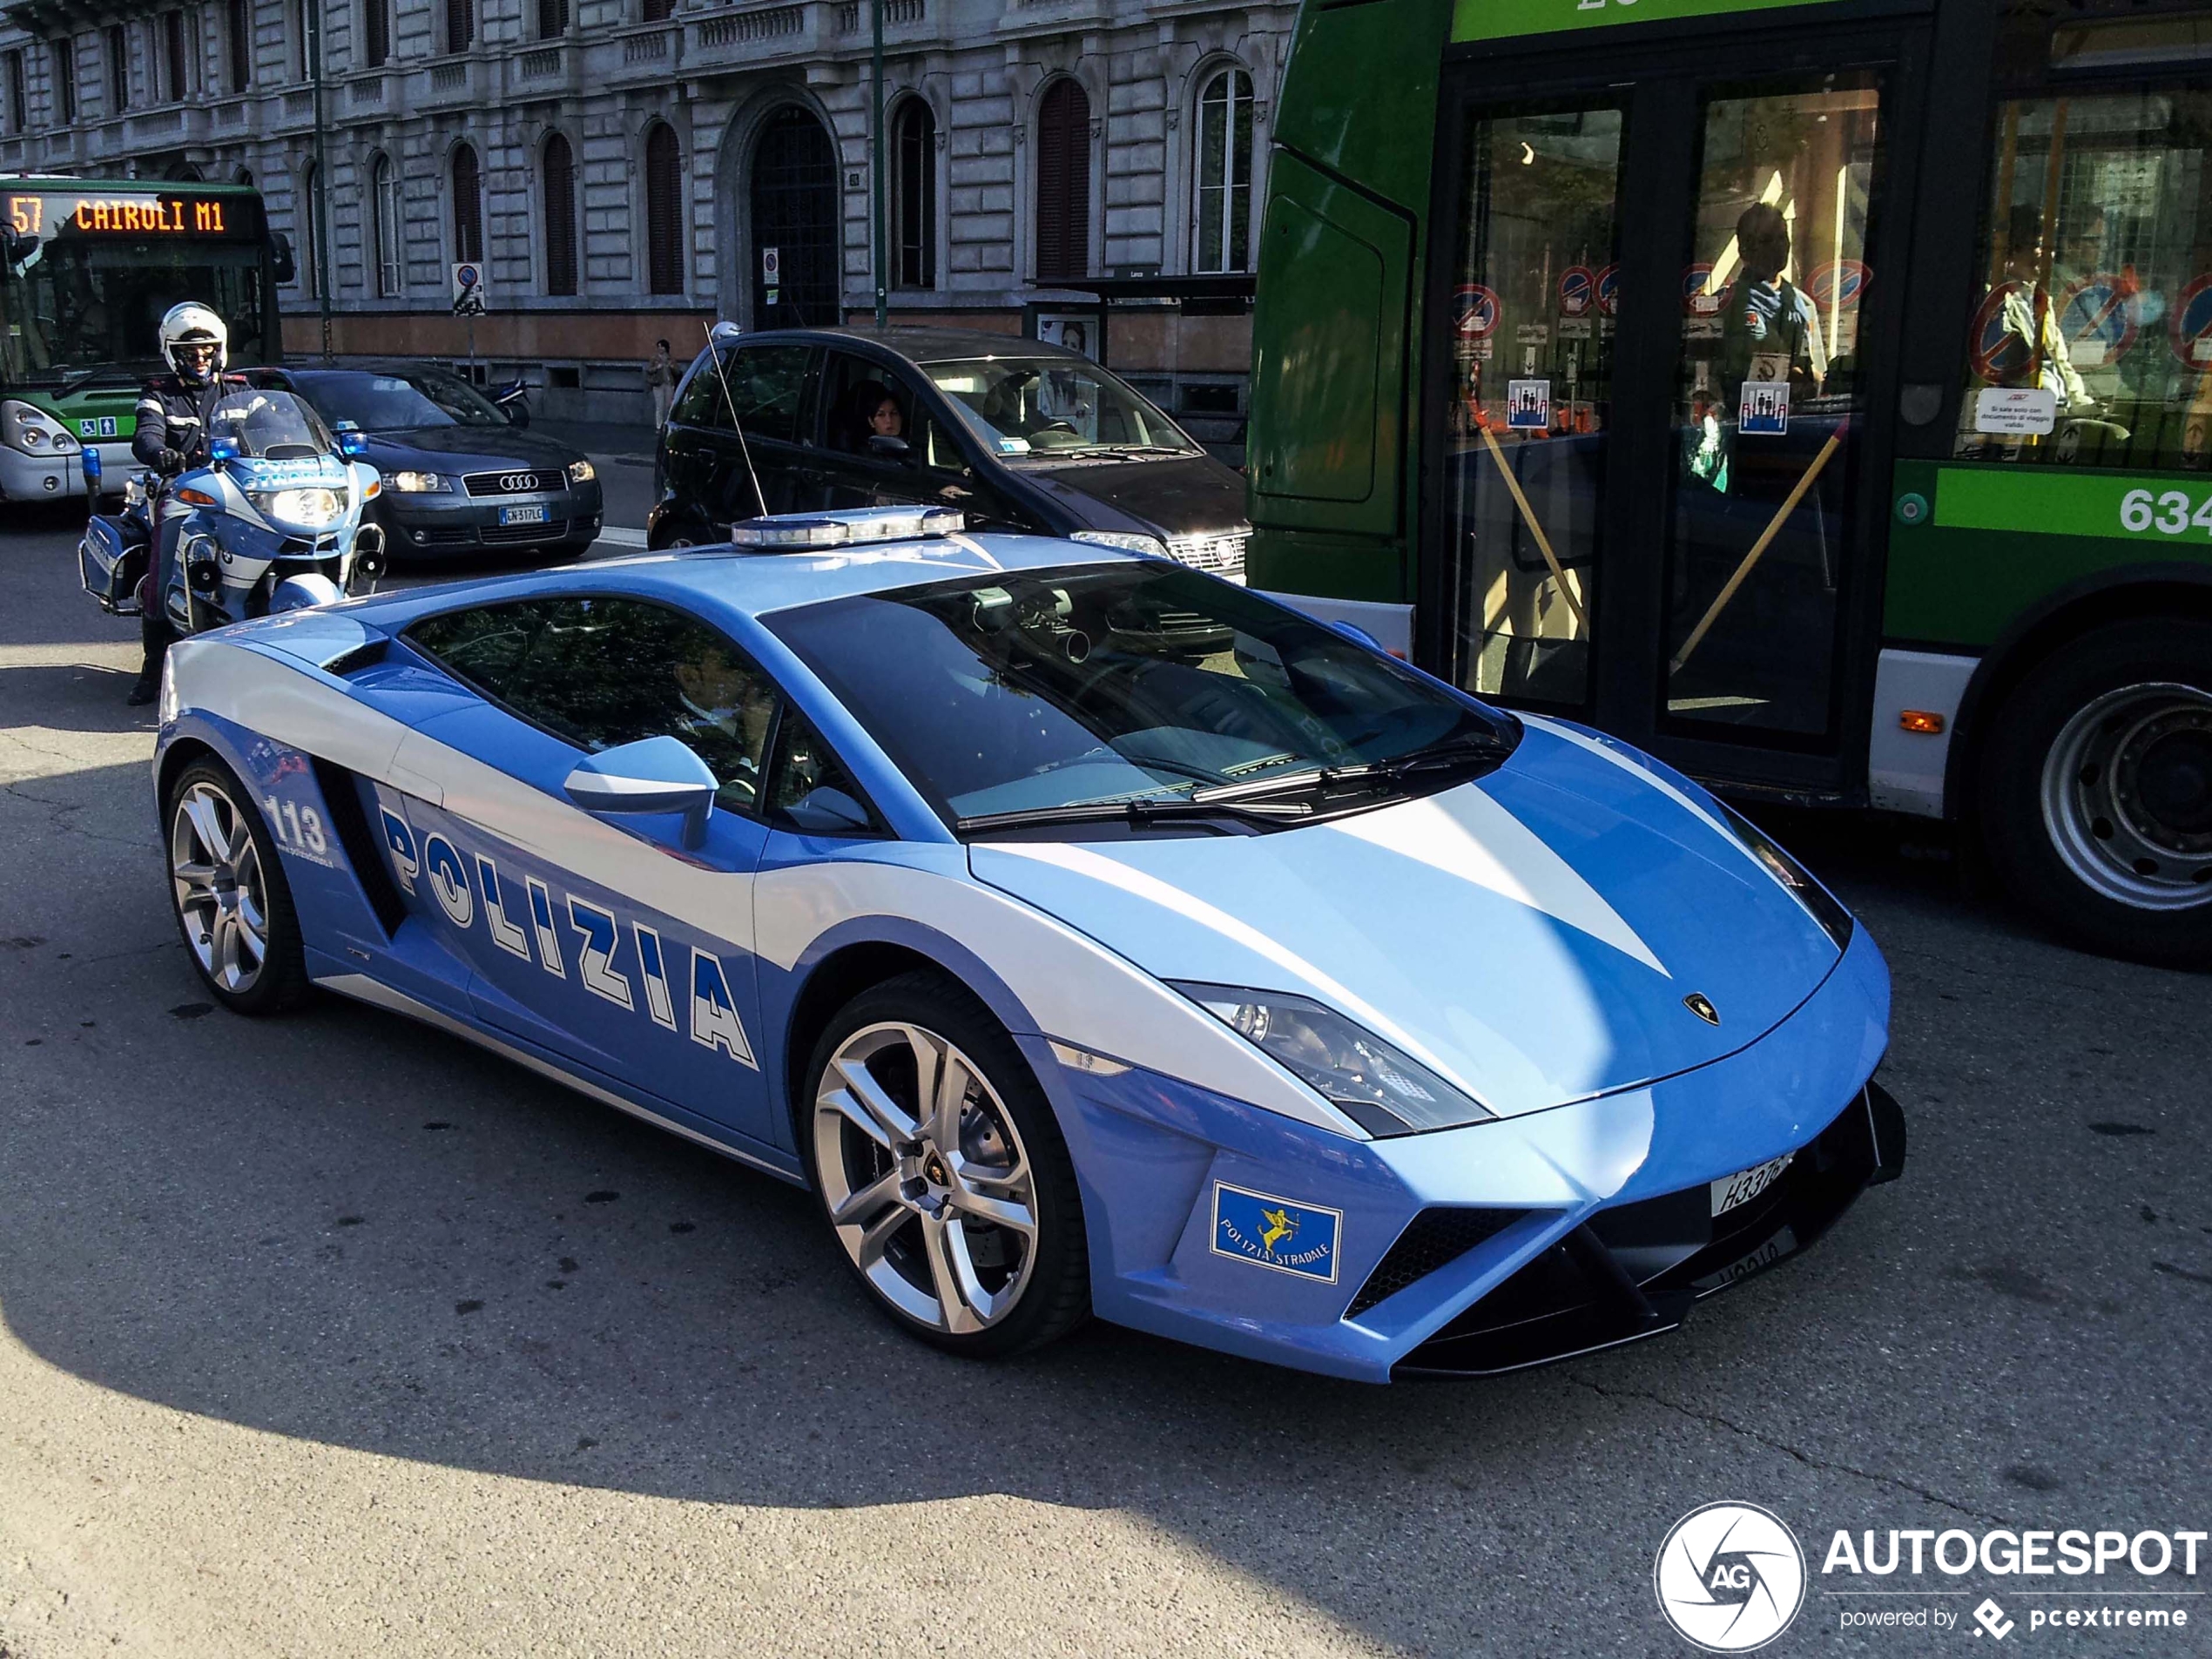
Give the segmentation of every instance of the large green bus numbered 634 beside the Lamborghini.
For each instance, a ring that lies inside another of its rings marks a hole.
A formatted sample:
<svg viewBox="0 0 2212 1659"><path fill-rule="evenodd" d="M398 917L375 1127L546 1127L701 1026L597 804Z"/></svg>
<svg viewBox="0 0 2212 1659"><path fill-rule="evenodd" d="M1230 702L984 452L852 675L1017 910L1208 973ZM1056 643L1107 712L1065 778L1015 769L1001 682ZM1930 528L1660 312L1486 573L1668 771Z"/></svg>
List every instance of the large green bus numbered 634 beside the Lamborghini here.
<svg viewBox="0 0 2212 1659"><path fill-rule="evenodd" d="M2212 9L1307 0L1250 580L2212 960Z"/></svg>

